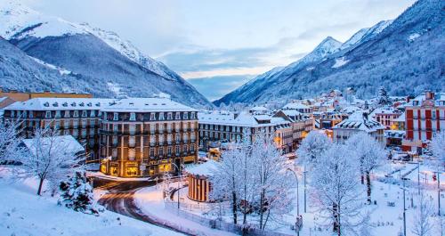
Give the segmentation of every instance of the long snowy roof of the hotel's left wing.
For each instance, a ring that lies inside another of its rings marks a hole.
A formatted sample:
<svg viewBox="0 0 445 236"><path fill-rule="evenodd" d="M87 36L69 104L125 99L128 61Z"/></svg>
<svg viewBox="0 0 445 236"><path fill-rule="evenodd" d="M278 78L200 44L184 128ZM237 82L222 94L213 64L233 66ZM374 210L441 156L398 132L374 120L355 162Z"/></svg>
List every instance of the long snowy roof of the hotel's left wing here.
<svg viewBox="0 0 445 236"><path fill-rule="evenodd" d="M113 101L104 98L33 98L14 102L4 110L101 110Z"/></svg>

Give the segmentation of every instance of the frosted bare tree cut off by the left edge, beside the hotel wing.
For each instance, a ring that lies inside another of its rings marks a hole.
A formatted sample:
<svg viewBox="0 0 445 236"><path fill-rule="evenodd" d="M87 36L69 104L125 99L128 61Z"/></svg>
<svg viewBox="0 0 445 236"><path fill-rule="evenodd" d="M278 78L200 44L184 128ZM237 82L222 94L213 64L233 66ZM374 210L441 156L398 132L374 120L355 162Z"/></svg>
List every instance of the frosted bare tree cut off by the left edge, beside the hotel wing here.
<svg viewBox="0 0 445 236"><path fill-rule="evenodd" d="M14 160L20 155L21 138L17 135L20 130L19 121L5 121L0 119L0 163Z"/></svg>

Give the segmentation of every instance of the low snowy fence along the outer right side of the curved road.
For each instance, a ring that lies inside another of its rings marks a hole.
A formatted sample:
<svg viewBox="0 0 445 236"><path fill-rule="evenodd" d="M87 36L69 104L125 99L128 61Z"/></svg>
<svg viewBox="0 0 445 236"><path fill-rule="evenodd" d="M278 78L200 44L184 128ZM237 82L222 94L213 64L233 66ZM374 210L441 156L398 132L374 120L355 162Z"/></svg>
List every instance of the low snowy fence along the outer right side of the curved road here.
<svg viewBox="0 0 445 236"><path fill-rule="evenodd" d="M188 206L188 205L190 205L190 206ZM185 208L196 208L196 207L191 206L192 204L188 204L188 205L185 205L184 203L182 203L181 208L182 208L182 206ZM227 222L224 222L222 220L217 220L217 219L209 219L209 218L206 218L205 216L198 216L198 215L192 214L190 212L184 211L182 209L178 209L178 203L174 202L174 201L169 201L169 200L165 201L165 206L168 211L174 213L176 216L181 216L183 218L186 218L190 221L204 225L206 227L221 230L221 231L226 231L226 232L242 234L241 225L231 224L231 223L227 223ZM250 228L247 232L247 235L252 235L252 236L260 236L260 235L261 236L264 236L264 235L291 236L290 234L281 233L281 232L270 232L270 231L265 231L265 230L262 231L258 228Z"/></svg>

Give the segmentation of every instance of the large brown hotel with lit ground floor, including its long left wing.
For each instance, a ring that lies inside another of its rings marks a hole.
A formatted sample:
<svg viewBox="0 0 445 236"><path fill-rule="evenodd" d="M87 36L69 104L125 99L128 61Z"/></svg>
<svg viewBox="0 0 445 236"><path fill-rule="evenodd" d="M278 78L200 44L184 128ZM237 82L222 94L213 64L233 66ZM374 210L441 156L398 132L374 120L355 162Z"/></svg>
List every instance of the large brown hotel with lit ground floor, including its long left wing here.
<svg viewBox="0 0 445 236"><path fill-rule="evenodd" d="M84 145L87 162L121 177L177 172L198 159L197 110L166 98L34 98L4 109L20 134L52 126Z"/></svg>

